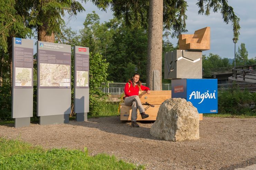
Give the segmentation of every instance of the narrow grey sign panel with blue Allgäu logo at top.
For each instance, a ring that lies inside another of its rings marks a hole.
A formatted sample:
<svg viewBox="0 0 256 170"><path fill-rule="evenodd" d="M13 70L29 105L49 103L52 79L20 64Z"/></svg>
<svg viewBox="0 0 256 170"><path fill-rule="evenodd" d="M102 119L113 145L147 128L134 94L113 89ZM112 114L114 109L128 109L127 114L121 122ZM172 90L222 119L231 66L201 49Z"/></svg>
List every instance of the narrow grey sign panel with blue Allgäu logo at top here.
<svg viewBox="0 0 256 170"><path fill-rule="evenodd" d="M33 40L14 37L12 61L12 118L29 118L33 116Z"/></svg>

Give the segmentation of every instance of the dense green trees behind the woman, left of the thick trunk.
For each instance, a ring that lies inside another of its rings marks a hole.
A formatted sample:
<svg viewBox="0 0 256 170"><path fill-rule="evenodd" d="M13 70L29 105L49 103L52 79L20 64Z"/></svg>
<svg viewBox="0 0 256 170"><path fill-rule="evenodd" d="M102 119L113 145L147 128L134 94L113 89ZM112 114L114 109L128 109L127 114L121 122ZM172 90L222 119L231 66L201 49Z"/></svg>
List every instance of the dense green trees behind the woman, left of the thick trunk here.
<svg viewBox="0 0 256 170"><path fill-rule="evenodd" d="M143 73L140 80L145 81L148 39L144 29L128 28L123 19L117 18L100 24L99 16L93 11L79 32L80 43L87 44L93 54L101 53L109 62L107 80L126 82L131 72L134 73L132 64L138 67L138 73Z"/></svg>

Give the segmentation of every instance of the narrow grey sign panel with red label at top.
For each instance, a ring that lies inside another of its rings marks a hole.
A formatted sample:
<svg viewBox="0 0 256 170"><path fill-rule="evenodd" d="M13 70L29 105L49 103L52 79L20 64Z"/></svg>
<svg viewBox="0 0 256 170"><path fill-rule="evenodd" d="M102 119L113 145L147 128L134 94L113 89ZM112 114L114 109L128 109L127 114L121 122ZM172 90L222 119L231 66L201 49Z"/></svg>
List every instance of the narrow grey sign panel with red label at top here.
<svg viewBox="0 0 256 170"><path fill-rule="evenodd" d="M75 46L75 113L89 112L89 48Z"/></svg>

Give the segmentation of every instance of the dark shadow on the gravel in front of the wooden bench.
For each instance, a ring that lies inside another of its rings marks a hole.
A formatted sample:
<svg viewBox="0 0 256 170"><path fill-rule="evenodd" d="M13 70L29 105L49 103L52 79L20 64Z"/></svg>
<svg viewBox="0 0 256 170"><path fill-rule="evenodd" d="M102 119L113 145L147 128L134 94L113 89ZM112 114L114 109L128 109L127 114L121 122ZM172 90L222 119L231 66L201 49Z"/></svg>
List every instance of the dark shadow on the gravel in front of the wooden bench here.
<svg viewBox="0 0 256 170"><path fill-rule="evenodd" d="M152 137L150 134L150 127L152 126L153 122L154 121L138 121L140 127L134 128L131 127L131 121L121 121L119 116L112 116L105 118L90 118L86 122L70 121L69 123L74 126L97 128L108 133L116 133L137 138L159 140Z"/></svg>

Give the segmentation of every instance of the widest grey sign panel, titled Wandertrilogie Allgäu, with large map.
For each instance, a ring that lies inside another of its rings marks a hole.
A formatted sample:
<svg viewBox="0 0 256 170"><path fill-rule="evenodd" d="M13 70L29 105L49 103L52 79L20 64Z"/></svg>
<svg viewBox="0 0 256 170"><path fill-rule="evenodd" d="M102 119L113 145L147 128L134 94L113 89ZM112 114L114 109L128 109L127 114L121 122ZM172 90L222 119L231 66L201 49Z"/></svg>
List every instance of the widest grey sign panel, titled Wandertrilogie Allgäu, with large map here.
<svg viewBox="0 0 256 170"><path fill-rule="evenodd" d="M37 116L69 114L71 46L42 41L37 45Z"/></svg>

